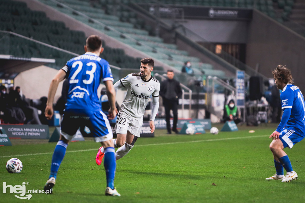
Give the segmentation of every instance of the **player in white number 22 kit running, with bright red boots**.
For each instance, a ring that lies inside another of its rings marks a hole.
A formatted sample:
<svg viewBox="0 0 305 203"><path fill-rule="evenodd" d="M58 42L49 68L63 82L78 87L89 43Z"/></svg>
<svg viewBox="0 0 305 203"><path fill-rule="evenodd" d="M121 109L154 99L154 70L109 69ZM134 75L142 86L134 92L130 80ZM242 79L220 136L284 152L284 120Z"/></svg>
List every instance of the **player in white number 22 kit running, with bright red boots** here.
<svg viewBox="0 0 305 203"><path fill-rule="evenodd" d="M114 147L119 148L115 153L116 160L125 156L140 137L143 116L146 104L152 95L152 113L149 122L151 133L155 130L155 117L159 109L159 81L152 77L154 61L151 58L141 60L140 73L131 73L117 81L113 87L117 90L127 87L127 94L117 115L115 133L117 139L113 139ZM101 165L104 157L104 148L99 148L95 162Z"/></svg>

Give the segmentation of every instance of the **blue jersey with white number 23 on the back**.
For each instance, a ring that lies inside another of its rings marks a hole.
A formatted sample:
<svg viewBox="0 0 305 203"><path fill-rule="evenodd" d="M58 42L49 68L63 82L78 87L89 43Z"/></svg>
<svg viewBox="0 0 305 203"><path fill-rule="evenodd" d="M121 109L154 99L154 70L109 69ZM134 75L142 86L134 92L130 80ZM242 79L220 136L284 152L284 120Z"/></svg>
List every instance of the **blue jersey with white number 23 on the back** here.
<svg viewBox="0 0 305 203"><path fill-rule="evenodd" d="M101 104L97 95L100 82L113 81L109 63L94 53L87 52L70 59L62 69L69 79L66 109L100 111Z"/></svg>

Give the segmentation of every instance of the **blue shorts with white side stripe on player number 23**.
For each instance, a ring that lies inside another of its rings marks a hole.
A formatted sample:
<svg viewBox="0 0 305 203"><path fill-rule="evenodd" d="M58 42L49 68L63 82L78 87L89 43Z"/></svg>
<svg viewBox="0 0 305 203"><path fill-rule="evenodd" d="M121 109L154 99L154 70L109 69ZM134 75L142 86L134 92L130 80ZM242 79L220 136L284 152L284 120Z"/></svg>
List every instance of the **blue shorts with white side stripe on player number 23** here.
<svg viewBox="0 0 305 203"><path fill-rule="evenodd" d="M65 109L60 125L60 133L71 140L79 127L87 126L96 142L113 138L107 116L102 111L85 111L82 109Z"/></svg>

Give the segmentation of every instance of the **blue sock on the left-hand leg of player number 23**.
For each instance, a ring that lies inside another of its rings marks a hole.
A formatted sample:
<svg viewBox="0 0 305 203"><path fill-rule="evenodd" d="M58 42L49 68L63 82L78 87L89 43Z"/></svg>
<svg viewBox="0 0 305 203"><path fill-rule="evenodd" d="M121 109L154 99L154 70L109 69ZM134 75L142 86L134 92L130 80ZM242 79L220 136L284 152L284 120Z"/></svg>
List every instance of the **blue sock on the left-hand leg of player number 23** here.
<svg viewBox="0 0 305 203"><path fill-rule="evenodd" d="M54 177L56 179L59 166L65 157L67 146L68 144L66 144L64 141L59 140L57 142L52 156L51 172L49 178Z"/></svg>

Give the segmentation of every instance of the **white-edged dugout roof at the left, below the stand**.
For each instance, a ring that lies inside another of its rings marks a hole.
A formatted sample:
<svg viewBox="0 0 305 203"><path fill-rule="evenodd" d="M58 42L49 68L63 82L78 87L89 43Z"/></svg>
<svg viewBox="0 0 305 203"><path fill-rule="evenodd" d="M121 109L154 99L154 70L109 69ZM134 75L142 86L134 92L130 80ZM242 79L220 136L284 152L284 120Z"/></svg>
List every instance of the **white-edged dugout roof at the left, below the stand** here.
<svg viewBox="0 0 305 203"><path fill-rule="evenodd" d="M25 70L42 66L46 63L55 63L55 59L21 58L12 55L0 55L0 72L20 73Z"/></svg>

